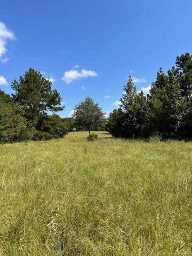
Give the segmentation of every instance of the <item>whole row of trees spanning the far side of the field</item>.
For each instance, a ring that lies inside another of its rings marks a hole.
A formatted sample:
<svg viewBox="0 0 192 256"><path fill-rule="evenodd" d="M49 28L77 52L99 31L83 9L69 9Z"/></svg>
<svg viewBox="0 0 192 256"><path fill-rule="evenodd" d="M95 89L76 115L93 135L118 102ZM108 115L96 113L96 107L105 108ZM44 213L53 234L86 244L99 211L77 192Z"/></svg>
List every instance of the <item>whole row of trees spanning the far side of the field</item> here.
<svg viewBox="0 0 192 256"><path fill-rule="evenodd" d="M176 58L176 66L165 74L160 68L150 93L137 92L130 76L123 86L120 108L109 118L90 97L74 106L71 118L56 112L64 109L52 82L30 68L12 82L10 96L0 90L0 142L62 138L68 131L108 130L120 138L188 139L192 137L192 55ZM53 112L52 115L48 114Z"/></svg>

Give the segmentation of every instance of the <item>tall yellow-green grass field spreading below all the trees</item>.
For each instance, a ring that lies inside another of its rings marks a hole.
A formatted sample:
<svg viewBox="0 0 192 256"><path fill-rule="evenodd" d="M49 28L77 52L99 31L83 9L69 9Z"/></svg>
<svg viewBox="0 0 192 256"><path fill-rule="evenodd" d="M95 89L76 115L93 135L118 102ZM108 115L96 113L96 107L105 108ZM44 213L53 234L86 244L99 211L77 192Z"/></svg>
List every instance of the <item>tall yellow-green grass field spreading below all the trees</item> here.
<svg viewBox="0 0 192 256"><path fill-rule="evenodd" d="M192 142L0 145L0 255L191 256Z"/></svg>

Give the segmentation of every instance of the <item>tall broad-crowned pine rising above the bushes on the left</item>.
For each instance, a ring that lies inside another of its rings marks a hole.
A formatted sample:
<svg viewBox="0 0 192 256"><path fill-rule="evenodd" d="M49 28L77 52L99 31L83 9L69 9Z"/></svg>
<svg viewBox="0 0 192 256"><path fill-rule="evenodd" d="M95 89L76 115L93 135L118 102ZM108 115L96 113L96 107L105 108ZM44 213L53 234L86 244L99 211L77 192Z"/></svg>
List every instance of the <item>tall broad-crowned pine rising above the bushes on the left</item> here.
<svg viewBox="0 0 192 256"><path fill-rule="evenodd" d="M42 74L30 68L24 76L20 76L19 82L12 82L12 94L14 102L18 102L25 109L28 121L34 124L47 110L56 112L63 110L61 97L57 90L51 89L52 82L42 76Z"/></svg>

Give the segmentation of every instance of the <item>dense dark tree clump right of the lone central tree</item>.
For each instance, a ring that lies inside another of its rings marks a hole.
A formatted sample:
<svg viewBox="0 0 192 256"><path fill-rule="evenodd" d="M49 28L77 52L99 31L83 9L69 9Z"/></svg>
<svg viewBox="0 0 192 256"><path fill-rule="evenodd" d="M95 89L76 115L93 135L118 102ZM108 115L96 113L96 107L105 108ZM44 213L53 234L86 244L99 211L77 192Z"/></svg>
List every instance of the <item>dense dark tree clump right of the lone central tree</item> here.
<svg viewBox="0 0 192 256"><path fill-rule="evenodd" d="M177 56L176 66L167 74L160 68L146 96L137 92L131 76L123 88L120 108L108 119L114 137L192 137L192 55Z"/></svg>

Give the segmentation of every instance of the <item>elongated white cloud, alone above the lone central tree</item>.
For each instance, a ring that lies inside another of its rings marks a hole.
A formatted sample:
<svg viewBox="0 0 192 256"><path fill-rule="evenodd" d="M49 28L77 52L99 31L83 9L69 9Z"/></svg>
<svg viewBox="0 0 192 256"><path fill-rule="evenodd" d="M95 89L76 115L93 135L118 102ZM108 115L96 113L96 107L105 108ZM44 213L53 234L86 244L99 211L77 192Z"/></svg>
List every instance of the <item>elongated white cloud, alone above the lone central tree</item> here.
<svg viewBox="0 0 192 256"><path fill-rule="evenodd" d="M78 80L80 78L89 77L89 76L98 76L97 72L93 70L82 69L80 72L75 69L71 69L69 71L64 72L64 76L61 78L64 82L69 84L74 80Z"/></svg>

